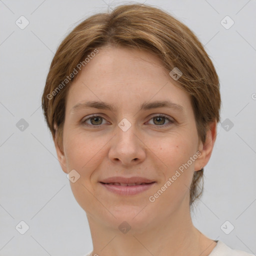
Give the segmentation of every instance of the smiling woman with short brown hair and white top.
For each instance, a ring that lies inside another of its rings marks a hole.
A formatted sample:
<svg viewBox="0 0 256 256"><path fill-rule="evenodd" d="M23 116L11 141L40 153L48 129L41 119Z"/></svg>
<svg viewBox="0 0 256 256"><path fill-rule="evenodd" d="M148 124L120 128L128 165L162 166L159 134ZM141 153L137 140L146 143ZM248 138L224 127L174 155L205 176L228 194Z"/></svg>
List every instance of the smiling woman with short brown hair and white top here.
<svg viewBox="0 0 256 256"><path fill-rule="evenodd" d="M87 255L250 255L191 221L220 94L184 24L144 4L87 18L58 47L42 107L88 218Z"/></svg>

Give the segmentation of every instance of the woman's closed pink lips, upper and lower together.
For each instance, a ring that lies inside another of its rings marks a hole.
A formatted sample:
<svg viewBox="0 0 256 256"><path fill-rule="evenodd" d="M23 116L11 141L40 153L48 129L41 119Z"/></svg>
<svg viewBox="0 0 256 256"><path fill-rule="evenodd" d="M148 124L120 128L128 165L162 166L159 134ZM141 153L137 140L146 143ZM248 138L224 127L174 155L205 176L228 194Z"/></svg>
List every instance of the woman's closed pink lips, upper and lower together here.
<svg viewBox="0 0 256 256"><path fill-rule="evenodd" d="M109 177L99 183L113 193L119 195L134 195L149 189L156 182L143 177ZM122 183L122 185L119 183Z"/></svg>

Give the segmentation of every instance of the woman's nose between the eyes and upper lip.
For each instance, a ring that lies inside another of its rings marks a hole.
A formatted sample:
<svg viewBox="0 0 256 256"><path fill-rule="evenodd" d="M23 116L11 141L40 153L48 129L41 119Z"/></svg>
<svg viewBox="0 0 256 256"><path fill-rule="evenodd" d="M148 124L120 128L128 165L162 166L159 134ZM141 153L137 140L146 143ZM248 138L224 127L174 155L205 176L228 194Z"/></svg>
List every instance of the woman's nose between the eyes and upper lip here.
<svg viewBox="0 0 256 256"><path fill-rule="evenodd" d="M108 157L114 163L135 165L145 159L145 144L141 141L135 125L124 131L116 127L116 135L111 140Z"/></svg>

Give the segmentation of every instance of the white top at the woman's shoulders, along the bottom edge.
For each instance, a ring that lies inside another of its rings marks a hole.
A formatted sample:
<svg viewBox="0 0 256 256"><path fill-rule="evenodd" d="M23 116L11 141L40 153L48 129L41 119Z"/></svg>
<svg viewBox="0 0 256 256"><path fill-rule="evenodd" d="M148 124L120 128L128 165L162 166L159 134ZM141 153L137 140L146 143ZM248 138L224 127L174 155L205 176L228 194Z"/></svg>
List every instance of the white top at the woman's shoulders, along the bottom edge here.
<svg viewBox="0 0 256 256"><path fill-rule="evenodd" d="M242 250L231 249L225 243L219 240L216 240L216 242L217 242L216 246L213 248L213 250L210 252L208 256L255 256L253 254L249 254L248 252L245 252ZM84 256L93 256L93 255L90 255L91 252L89 252Z"/></svg>

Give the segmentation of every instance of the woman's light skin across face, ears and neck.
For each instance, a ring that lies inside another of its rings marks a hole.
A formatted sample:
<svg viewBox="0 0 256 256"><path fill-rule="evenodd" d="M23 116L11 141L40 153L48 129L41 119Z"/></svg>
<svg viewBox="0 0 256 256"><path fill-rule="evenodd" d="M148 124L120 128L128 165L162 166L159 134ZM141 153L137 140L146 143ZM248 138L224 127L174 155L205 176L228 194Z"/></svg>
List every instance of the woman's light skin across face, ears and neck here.
<svg viewBox="0 0 256 256"><path fill-rule="evenodd" d="M202 143L189 95L176 82L152 53L108 46L99 49L68 91L63 141L58 145L55 139L55 146L63 171L75 169L80 174L70 186L88 218L92 255L206 256L216 245L193 226L189 209L193 172L210 158L216 122L209 124ZM74 107L92 100L115 109ZM182 109L140 109L142 103L158 100ZM91 114L100 117L93 119ZM169 120L159 118L162 114ZM118 126L123 118L131 124L126 131ZM200 155L189 167L150 202L149 196L198 150ZM117 195L99 183L111 176L141 176L156 182L139 194ZM118 228L123 221L131 227L125 234Z"/></svg>

